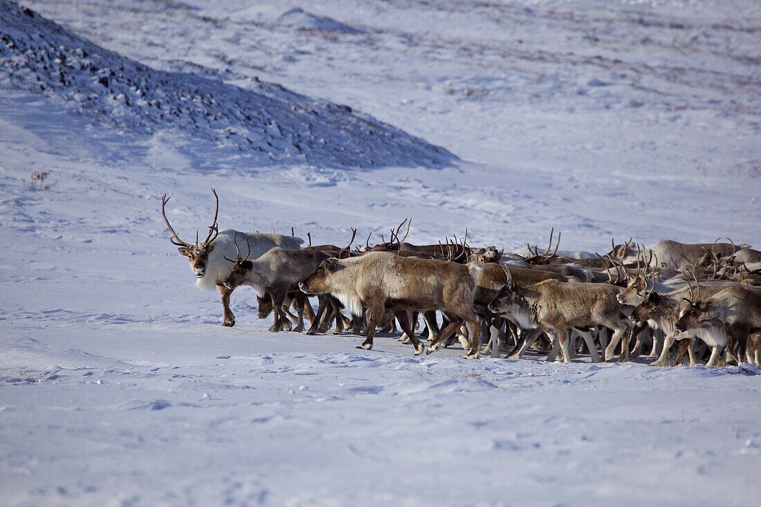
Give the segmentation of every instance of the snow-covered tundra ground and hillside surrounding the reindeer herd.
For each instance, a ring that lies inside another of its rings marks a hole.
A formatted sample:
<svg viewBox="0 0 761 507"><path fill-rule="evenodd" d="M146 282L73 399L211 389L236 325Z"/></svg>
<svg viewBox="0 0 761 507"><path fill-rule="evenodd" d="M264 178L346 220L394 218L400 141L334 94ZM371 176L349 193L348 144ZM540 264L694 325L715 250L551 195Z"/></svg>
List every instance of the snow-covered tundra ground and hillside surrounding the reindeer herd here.
<svg viewBox="0 0 761 507"><path fill-rule="evenodd" d="M758 246L757 2L24 5L72 33L0 2L0 504L758 505L753 368L222 328L158 212Z"/></svg>

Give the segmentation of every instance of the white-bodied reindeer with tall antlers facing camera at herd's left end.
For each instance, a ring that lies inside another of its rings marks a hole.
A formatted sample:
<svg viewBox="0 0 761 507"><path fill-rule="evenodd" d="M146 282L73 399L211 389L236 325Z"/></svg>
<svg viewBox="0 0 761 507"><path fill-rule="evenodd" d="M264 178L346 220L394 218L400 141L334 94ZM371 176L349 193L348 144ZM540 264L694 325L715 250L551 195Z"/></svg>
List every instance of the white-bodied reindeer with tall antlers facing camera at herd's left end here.
<svg viewBox="0 0 761 507"><path fill-rule="evenodd" d="M251 245L252 253L256 257L274 247L281 247L286 250L297 249L304 243L304 240L282 234L247 234L232 229L219 231L217 225L219 197L216 190L212 189L212 193L216 199L214 221L212 225L209 225L209 234L203 241L199 242L198 232L196 232L196 243L194 244L180 239L167 218L166 206L170 199L167 194L161 198L161 216L164 217L164 222L172 233L169 241L176 245L177 251L189 260L190 269L196 276L196 287L206 291L212 291L215 287L219 290L224 310L222 325L232 327L235 325L235 316L230 310L230 295L233 290L224 286L224 279L230 274L231 265L224 260L224 256L235 254L235 250L237 250L237 248L234 250L236 238L239 235L241 238L246 238L246 241Z"/></svg>

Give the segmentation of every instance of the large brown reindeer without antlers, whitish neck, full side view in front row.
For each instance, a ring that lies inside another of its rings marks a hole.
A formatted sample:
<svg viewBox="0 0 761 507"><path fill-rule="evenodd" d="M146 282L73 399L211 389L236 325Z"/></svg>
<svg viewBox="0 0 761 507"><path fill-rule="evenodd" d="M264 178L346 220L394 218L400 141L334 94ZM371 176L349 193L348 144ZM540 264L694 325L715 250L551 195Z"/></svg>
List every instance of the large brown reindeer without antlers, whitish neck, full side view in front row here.
<svg viewBox="0 0 761 507"><path fill-rule="evenodd" d="M368 308L368 336L359 349L372 349L375 327L385 311L390 310L412 340L418 356L425 347L412 329L407 312L438 310L447 314L451 322L431 343L428 353L438 349L464 320L470 333L465 357L477 359L479 318L473 310L476 291L473 269L440 260L370 252L361 257L325 260L299 287L306 294L335 296L354 315L361 315L363 307Z"/></svg>

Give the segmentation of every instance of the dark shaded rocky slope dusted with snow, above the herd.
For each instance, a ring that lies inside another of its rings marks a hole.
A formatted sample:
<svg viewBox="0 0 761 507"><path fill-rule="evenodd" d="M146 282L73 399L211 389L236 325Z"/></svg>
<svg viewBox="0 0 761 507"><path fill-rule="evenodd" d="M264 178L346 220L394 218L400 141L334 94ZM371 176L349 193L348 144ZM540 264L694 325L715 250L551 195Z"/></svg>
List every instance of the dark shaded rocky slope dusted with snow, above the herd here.
<svg viewBox="0 0 761 507"><path fill-rule="evenodd" d="M256 79L244 90L151 69L5 0L0 27L0 83L62 101L116 129L183 129L253 155L255 164L438 167L455 159L372 116L279 85Z"/></svg>

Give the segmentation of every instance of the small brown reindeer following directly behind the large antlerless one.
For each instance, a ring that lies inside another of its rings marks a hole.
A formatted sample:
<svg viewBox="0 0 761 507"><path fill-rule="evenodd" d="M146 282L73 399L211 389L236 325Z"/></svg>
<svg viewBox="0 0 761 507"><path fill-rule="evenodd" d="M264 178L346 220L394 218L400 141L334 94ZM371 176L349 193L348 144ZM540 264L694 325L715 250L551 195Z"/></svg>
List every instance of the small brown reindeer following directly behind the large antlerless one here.
<svg viewBox="0 0 761 507"><path fill-rule="evenodd" d="M605 360L613 359L613 351L623 338L619 362L629 352L626 314L631 308L616 301L620 289L602 283L564 283L546 280L526 287L513 282L505 284L489 310L516 320L525 330L539 329L554 337L565 362L571 362L568 327L602 325L613 330L613 338L605 350ZM527 340L528 341L528 340ZM530 346L530 343L524 343Z"/></svg>

